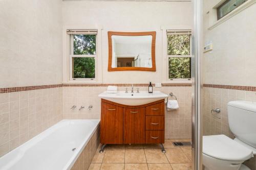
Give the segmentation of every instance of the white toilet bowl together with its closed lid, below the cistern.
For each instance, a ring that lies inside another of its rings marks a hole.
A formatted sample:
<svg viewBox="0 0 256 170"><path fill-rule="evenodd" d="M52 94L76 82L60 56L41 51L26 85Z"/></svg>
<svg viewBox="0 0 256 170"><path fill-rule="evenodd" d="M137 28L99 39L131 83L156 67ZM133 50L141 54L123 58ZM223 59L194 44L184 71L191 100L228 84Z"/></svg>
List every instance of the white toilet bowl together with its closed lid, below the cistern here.
<svg viewBox="0 0 256 170"><path fill-rule="evenodd" d="M205 170L242 170L242 163L253 153L225 135L203 136L203 164Z"/></svg>

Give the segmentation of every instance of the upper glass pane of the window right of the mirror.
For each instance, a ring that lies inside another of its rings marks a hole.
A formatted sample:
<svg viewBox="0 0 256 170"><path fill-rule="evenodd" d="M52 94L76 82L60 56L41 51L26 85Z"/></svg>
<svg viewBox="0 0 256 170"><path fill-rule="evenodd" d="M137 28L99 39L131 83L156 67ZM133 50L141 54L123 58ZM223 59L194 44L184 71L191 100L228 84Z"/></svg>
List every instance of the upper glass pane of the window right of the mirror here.
<svg viewBox="0 0 256 170"><path fill-rule="evenodd" d="M190 35L167 35L168 55L190 55Z"/></svg>

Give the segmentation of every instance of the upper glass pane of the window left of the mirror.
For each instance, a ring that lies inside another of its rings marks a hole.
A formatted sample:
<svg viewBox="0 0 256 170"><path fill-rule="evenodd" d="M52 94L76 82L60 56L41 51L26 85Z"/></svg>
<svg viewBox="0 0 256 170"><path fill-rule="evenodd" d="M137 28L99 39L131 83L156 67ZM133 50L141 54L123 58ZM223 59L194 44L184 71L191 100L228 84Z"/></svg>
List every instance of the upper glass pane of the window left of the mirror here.
<svg viewBox="0 0 256 170"><path fill-rule="evenodd" d="M96 54L96 35L74 35L74 55Z"/></svg>

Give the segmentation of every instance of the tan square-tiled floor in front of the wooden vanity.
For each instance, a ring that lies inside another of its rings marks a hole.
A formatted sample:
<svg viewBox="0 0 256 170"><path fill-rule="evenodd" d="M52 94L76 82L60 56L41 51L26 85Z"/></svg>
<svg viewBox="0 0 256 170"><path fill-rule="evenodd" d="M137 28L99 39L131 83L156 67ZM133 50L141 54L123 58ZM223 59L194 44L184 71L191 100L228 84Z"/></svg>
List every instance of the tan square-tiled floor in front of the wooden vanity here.
<svg viewBox="0 0 256 170"><path fill-rule="evenodd" d="M163 154L159 145L107 145L103 153L96 151L89 170L190 170L191 147L174 147L166 139ZM190 141L187 139L179 141Z"/></svg>

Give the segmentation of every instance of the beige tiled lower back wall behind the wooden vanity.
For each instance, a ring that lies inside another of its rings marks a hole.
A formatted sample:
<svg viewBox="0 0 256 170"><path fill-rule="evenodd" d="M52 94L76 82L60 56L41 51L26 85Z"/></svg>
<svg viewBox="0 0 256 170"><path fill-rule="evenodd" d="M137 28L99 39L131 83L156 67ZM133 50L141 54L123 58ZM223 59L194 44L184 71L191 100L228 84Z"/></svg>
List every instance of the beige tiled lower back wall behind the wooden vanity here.
<svg viewBox="0 0 256 170"><path fill-rule="evenodd" d="M136 88L136 87L135 87ZM128 87L131 90L131 87ZM147 87L139 87L147 90ZM98 94L105 91L106 87L63 87L63 118L100 118L101 101ZM125 90L125 87L118 87ZM166 94L173 92L178 99L180 108L174 111L166 111L165 138L186 139L191 138L191 87L161 87L154 90ZM71 110L75 105L77 108ZM92 105L93 109L88 110ZM81 106L85 108L79 110Z"/></svg>

